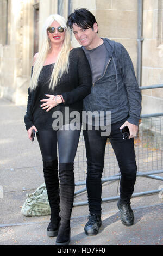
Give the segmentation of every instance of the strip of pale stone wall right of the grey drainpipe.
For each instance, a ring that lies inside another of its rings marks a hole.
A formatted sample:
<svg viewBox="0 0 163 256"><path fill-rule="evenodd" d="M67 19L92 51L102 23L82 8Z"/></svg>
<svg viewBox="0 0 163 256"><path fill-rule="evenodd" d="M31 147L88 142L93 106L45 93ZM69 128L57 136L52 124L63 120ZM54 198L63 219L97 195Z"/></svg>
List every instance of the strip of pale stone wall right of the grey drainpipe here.
<svg viewBox="0 0 163 256"><path fill-rule="evenodd" d="M144 0L142 86L163 84L163 1ZM142 114L163 112L163 88L142 91Z"/></svg>

